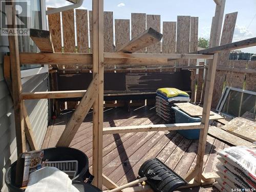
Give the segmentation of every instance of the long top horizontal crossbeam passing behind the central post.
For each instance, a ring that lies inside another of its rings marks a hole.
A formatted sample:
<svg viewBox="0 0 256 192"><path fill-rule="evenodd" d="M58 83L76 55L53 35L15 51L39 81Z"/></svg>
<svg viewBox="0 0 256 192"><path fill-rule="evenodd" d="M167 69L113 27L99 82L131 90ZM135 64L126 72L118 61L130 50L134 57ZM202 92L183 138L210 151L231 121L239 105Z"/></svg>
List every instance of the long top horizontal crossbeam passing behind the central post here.
<svg viewBox="0 0 256 192"><path fill-rule="evenodd" d="M20 53L21 65L83 65L92 69L91 53ZM104 53L105 66L168 65L168 59L212 59L202 54Z"/></svg>

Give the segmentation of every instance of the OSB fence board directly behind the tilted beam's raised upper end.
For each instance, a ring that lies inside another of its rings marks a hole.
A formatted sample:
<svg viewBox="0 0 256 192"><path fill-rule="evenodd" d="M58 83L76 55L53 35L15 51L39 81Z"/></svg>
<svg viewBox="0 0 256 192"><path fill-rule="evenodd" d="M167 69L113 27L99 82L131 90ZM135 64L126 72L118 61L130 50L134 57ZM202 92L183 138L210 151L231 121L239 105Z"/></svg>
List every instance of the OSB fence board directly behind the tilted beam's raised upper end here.
<svg viewBox="0 0 256 192"><path fill-rule="evenodd" d="M160 15L146 15L146 28L153 28L159 33L161 32L160 29ZM160 53L160 41L156 42L155 44L148 46L146 48L147 53Z"/></svg>

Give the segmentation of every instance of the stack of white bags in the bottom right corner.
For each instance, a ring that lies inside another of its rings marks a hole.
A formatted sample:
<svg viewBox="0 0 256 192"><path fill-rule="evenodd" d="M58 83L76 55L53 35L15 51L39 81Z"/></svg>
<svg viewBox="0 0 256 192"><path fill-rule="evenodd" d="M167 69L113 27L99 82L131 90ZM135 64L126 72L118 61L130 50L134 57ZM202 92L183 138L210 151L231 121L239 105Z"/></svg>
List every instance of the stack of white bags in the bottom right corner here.
<svg viewBox="0 0 256 192"><path fill-rule="evenodd" d="M220 191L255 191L256 148L234 146L218 153L219 178L214 186Z"/></svg>

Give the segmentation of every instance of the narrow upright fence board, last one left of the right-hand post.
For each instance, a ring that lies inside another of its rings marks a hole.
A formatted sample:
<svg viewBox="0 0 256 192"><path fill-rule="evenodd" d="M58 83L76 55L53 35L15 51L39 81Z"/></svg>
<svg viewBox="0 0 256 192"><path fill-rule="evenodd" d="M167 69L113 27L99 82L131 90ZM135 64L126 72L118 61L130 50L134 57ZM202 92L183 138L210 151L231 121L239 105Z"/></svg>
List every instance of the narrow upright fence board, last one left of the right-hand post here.
<svg viewBox="0 0 256 192"><path fill-rule="evenodd" d="M190 19L190 45L189 52L195 52L198 49L198 17ZM196 66L197 59L189 59L189 66ZM191 73L191 101L195 102L196 91L196 69Z"/></svg>

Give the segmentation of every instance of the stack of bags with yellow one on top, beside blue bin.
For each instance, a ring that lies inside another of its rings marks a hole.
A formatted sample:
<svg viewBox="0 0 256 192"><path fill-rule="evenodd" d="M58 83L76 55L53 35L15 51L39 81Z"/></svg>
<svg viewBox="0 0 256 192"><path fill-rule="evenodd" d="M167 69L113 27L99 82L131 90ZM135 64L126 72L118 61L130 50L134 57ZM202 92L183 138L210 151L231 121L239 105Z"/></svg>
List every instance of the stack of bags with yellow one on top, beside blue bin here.
<svg viewBox="0 0 256 192"><path fill-rule="evenodd" d="M175 111L172 109L174 103L189 102L189 95L176 88L160 88L156 96L156 112L168 123L175 122Z"/></svg>

